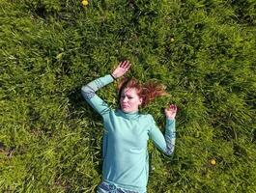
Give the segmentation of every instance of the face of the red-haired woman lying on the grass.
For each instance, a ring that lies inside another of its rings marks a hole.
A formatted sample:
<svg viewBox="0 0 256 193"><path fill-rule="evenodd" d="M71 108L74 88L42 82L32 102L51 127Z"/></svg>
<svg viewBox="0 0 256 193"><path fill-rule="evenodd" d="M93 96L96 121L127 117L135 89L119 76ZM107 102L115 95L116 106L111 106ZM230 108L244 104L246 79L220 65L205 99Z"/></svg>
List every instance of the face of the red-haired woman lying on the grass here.
<svg viewBox="0 0 256 193"><path fill-rule="evenodd" d="M120 106L124 112L132 113L138 111L141 103L142 98L137 95L135 88L123 89L120 97Z"/></svg>

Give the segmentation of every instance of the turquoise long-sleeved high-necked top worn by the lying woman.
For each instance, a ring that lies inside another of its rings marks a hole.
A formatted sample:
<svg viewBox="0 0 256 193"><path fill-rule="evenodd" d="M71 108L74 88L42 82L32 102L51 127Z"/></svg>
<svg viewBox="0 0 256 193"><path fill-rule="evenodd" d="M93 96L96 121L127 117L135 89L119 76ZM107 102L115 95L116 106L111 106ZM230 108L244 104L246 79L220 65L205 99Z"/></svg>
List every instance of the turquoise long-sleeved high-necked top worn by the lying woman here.
<svg viewBox="0 0 256 193"><path fill-rule="evenodd" d="M163 136L152 115L111 109L96 95L97 90L111 82L113 78L108 74L82 87L82 96L103 119L103 180L131 191L146 192L148 140L152 139L160 151L171 154L175 145L175 120L166 119Z"/></svg>

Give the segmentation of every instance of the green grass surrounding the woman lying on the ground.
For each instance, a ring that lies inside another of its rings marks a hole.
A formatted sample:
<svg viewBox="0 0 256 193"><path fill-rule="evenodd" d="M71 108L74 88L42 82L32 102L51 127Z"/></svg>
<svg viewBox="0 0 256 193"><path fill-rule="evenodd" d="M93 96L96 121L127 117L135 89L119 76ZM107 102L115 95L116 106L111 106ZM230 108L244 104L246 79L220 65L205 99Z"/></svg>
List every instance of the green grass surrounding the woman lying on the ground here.
<svg viewBox="0 0 256 193"><path fill-rule="evenodd" d="M175 153L149 144L148 192L256 191L253 0L0 0L0 190L95 192L102 123L82 85L121 60L171 96L142 110L164 127L180 107ZM115 84L99 91L117 102ZM216 164L211 164L214 159Z"/></svg>

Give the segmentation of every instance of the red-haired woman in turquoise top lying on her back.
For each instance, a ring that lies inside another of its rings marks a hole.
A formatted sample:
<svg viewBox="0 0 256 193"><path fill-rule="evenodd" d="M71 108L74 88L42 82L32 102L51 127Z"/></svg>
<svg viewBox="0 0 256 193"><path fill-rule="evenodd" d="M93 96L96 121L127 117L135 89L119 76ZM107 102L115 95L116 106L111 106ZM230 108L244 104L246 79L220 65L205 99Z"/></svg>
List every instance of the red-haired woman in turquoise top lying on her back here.
<svg viewBox="0 0 256 193"><path fill-rule="evenodd" d="M165 109L165 135L156 125L152 115L139 113L156 96L164 96L161 85L148 82L144 85L134 78L119 84L119 108L111 109L96 91L123 76L131 64L121 62L111 73L82 87L82 96L103 119L102 182L98 193L145 193L149 178L148 139L156 147L171 154L175 145L175 116L177 107Z"/></svg>

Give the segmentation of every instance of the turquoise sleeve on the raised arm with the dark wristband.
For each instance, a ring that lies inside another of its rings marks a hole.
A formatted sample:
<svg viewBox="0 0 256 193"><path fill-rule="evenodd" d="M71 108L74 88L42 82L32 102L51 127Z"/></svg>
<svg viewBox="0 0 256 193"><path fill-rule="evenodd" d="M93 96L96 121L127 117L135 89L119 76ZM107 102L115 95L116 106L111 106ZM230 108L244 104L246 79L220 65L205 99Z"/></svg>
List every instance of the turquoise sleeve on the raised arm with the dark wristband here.
<svg viewBox="0 0 256 193"><path fill-rule="evenodd" d="M108 74L103 77L100 77L87 85L83 86L81 89L82 96L85 100L104 118L110 108L108 105L96 95L96 92L103 86L113 82L113 77Z"/></svg>

